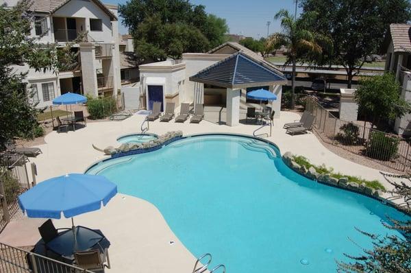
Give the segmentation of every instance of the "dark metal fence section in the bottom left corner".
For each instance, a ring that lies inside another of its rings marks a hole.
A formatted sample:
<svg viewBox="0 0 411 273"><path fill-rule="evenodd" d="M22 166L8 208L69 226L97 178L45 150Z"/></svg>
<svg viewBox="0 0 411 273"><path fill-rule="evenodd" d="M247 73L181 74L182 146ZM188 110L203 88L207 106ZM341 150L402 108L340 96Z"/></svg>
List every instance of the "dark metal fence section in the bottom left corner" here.
<svg viewBox="0 0 411 273"><path fill-rule="evenodd" d="M0 243L0 272L92 273L75 265Z"/></svg>

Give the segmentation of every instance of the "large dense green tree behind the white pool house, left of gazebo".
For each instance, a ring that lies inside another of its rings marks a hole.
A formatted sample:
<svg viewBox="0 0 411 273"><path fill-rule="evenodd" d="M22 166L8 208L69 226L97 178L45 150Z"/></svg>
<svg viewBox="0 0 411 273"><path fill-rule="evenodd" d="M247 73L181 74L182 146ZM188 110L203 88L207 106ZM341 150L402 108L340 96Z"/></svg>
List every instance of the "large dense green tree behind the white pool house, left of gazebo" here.
<svg viewBox="0 0 411 273"><path fill-rule="evenodd" d="M225 19L186 0L131 0L119 5L119 12L142 61L206 51L223 43L228 31Z"/></svg>

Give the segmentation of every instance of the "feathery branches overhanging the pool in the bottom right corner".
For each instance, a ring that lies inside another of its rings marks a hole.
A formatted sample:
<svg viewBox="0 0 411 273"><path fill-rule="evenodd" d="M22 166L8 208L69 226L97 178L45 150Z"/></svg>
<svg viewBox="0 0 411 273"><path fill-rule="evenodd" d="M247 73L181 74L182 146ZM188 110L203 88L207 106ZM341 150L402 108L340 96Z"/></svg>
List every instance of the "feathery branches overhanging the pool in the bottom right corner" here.
<svg viewBox="0 0 411 273"><path fill-rule="evenodd" d="M404 182L392 182L393 194L402 196L404 200L411 200L411 187ZM410 206L404 207L411 213ZM366 273L366 272L410 272L411 268L411 220L399 221L390 219L391 226L387 228L399 230L403 237L397 235L374 235L359 230L364 236L373 240L373 249L364 249L359 256L345 254L351 258L351 262L337 262L338 272Z"/></svg>

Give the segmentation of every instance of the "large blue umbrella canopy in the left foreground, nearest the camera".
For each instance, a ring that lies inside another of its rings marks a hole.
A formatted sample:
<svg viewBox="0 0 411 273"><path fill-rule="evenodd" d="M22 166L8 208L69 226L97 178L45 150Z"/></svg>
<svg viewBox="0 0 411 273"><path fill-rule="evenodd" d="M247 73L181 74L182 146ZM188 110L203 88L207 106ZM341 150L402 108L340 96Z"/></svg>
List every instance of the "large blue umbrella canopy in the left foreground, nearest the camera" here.
<svg viewBox="0 0 411 273"><path fill-rule="evenodd" d="M60 219L97 211L116 195L117 186L104 176L66 174L38 183L18 196L28 217Z"/></svg>

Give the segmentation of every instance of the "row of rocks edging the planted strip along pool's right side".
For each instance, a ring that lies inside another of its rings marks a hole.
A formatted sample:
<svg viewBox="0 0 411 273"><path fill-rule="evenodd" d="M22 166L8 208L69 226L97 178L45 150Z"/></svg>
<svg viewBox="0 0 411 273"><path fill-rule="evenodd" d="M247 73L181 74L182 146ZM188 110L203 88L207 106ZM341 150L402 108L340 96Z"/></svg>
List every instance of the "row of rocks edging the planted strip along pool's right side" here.
<svg viewBox="0 0 411 273"><path fill-rule="evenodd" d="M310 178L311 180L320 182L321 184L324 184L324 185L329 185L332 187L337 187L340 189L353 191L356 193L360 193L362 195L369 196L371 198L384 200L384 202L387 201L385 198L382 198L382 195L384 194L383 191L367 187L365 183L358 185L358 183L356 182L349 181L349 178L347 177L342 177L340 179L337 179L337 178L330 176L330 174L317 173L314 167L310 167L309 169L307 169L305 166L300 166L294 161L294 155L291 152L286 152L282 156L282 158L283 158L284 163L286 163L288 167L296 171L298 174L301 174L302 176L306 176L306 178Z"/></svg>

